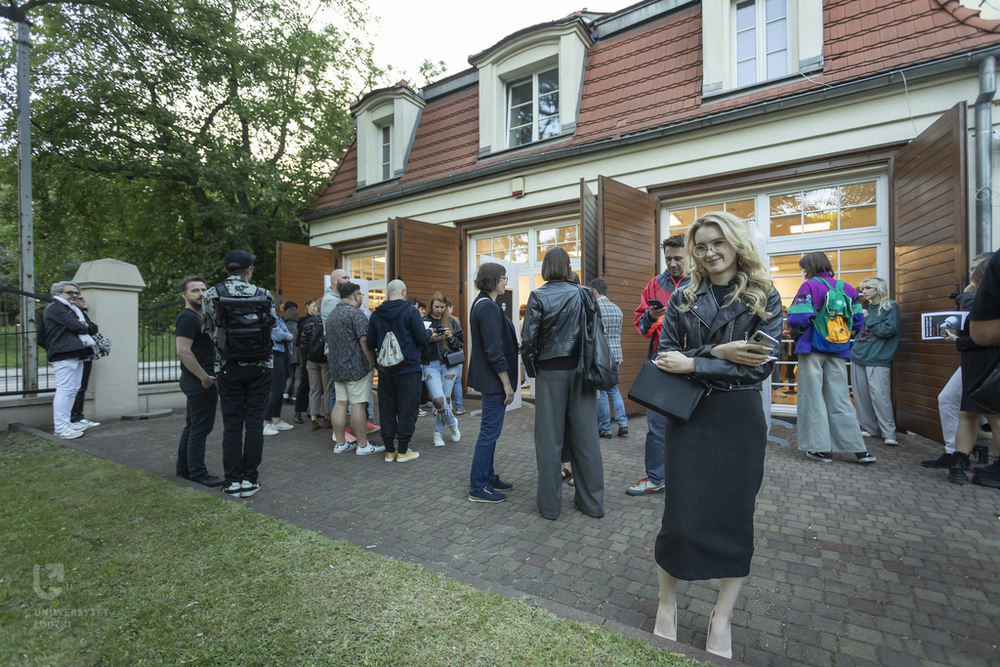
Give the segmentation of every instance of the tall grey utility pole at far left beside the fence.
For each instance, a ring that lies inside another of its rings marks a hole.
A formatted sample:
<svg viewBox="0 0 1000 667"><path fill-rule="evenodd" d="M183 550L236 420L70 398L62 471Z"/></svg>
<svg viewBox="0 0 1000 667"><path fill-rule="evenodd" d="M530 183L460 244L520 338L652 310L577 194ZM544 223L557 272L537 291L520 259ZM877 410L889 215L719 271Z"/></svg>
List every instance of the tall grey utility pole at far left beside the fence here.
<svg viewBox="0 0 1000 667"><path fill-rule="evenodd" d="M21 290L35 292L35 231L31 211L31 27L27 19L17 24L17 213L21 230ZM38 392L38 348L35 345L35 299L21 295L23 362L21 390Z"/></svg>

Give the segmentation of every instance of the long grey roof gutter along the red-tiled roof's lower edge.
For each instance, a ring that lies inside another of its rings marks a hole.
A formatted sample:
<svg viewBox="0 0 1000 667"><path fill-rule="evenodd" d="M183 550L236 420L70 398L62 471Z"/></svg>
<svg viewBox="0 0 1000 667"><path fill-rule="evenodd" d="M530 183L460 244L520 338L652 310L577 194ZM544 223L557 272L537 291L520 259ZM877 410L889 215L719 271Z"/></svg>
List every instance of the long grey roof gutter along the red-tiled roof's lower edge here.
<svg viewBox="0 0 1000 667"><path fill-rule="evenodd" d="M654 130L637 132L635 134L623 136L619 139L605 139L582 146L571 146L569 148L557 149L545 153L511 157L508 160L493 162L460 174L452 174L450 176L445 176L444 178L434 179L433 181L403 187L399 190L372 195L357 201L348 201L342 204L337 204L336 206L330 206L328 208L312 211L300 216L300 219L303 222L311 223L320 218L326 218L332 215L345 213L347 211L354 211L368 206L376 206L387 201L401 199L410 195L429 192L431 190L437 190L451 185L468 183L469 181L474 181L487 176L498 176L534 167L536 165L548 164L570 158L592 155L603 151L615 150L617 148L677 136L679 134L693 132L700 129L718 127L720 125L736 122L738 120L756 118L769 113L796 109L810 104L815 104L817 102L826 102L828 100L835 100L849 95L856 95L858 93L887 88L903 83L904 76L905 80L913 81L918 78L938 76L962 69L969 69L978 66L980 61L990 57L1000 57L1000 47L990 47L988 49L971 51L957 56L950 56L948 58L943 58L930 63L912 65L910 67L903 68L902 70L892 70L883 74L876 74L875 76L864 79L827 86L787 98L760 102L758 104L738 109L731 109L729 111L723 111L710 116L705 116L703 118L695 118L689 121L677 123L675 125L668 125Z"/></svg>

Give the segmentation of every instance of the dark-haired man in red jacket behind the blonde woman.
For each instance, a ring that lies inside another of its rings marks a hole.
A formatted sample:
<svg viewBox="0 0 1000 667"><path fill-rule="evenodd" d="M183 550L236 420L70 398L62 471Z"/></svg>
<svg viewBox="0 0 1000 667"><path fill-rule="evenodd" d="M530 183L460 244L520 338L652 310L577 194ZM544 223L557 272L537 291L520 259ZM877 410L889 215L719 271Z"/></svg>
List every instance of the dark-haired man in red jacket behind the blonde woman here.
<svg viewBox="0 0 1000 667"><path fill-rule="evenodd" d="M646 289L642 290L642 299L635 309L635 328L646 338L649 338L648 358L656 357L656 348L660 345L660 329L663 326L663 313L666 311L670 296L687 282L685 270L687 257L684 254L684 235L676 234L663 241L663 262L666 269L654 276ZM660 305L650 303L650 300ZM630 496L644 496L653 493L663 493L663 438L667 429L667 418L653 410L646 411L646 476L628 487L625 491Z"/></svg>

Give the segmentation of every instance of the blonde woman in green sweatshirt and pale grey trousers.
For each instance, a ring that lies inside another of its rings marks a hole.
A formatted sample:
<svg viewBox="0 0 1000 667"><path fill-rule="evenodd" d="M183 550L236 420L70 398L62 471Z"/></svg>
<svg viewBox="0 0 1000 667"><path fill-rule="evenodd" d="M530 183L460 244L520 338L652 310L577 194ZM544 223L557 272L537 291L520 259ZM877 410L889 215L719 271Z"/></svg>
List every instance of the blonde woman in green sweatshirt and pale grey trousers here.
<svg viewBox="0 0 1000 667"><path fill-rule="evenodd" d="M889 299L889 285L878 277L858 284L868 302L865 325L851 345L854 369L854 407L866 438L881 435L885 444L896 447L896 419L892 414L892 358L899 345L899 306Z"/></svg>

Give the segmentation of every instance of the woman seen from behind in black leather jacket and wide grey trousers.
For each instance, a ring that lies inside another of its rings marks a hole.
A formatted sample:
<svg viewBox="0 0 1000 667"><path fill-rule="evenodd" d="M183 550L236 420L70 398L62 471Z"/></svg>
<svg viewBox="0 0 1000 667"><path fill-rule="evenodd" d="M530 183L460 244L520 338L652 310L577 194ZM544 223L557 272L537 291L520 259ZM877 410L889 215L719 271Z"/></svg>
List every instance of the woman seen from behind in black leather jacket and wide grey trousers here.
<svg viewBox="0 0 1000 667"><path fill-rule="evenodd" d="M521 329L521 358L535 381L535 504L546 519L562 510L564 454L573 465L577 508L604 516L604 464L597 437L597 392L584 386L577 366L581 308L597 311L594 293L573 284L569 255L556 246L545 253L546 283L528 296ZM599 315L598 315L599 317Z"/></svg>

